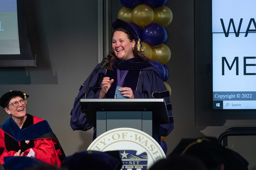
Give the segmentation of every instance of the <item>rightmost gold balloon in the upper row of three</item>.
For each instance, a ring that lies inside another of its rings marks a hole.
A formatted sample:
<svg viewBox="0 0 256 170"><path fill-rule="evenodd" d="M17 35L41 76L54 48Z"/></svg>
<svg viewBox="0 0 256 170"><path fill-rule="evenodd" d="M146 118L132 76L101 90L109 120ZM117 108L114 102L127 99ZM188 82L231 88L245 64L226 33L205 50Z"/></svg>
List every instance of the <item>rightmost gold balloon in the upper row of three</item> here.
<svg viewBox="0 0 256 170"><path fill-rule="evenodd" d="M169 26L172 21L173 14L170 8L162 6L160 8L154 8L154 19L153 23L162 25L163 27Z"/></svg>

